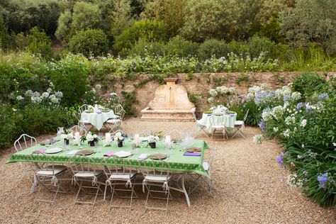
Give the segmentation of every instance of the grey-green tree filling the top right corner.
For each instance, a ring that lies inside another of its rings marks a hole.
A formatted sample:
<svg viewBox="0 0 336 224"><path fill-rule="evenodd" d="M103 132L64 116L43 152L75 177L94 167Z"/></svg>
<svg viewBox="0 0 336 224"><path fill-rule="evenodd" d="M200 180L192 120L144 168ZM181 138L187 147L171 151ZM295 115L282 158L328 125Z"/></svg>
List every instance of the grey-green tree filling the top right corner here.
<svg viewBox="0 0 336 224"><path fill-rule="evenodd" d="M296 0L295 7L281 13L281 30L296 45L314 42L325 52L335 53L335 9L335 0Z"/></svg>

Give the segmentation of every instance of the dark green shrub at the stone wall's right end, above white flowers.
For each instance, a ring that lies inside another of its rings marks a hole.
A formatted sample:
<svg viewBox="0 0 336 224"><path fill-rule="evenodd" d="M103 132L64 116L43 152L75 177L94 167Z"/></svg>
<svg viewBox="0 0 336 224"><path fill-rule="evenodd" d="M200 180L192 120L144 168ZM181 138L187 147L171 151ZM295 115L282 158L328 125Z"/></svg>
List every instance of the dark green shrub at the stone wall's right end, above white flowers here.
<svg viewBox="0 0 336 224"><path fill-rule="evenodd" d="M298 91L303 97L312 96L315 93L326 92L330 86L327 86L325 79L317 73L304 72L294 77L293 90Z"/></svg>

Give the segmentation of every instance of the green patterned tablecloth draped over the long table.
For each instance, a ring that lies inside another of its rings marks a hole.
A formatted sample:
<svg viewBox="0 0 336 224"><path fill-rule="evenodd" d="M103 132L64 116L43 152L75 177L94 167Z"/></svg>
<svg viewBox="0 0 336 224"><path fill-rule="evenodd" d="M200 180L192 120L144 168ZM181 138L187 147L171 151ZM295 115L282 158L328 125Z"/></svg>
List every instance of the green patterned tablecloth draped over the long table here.
<svg viewBox="0 0 336 224"><path fill-rule="evenodd" d="M103 162L103 159L106 158L103 155L106 154L106 152L118 152L118 151L126 151L131 152L132 151L132 142L128 139L124 141L123 147L118 147L116 142L113 142L112 146L103 147L103 142L99 142L96 147L90 147L87 142L82 145L85 149L91 149L94 150L96 153L93 155L90 155L94 162L96 164L101 164ZM157 147L155 149L152 149L150 147L145 147L146 143L142 143L142 147L138 147L137 150L135 150L135 153L128 157L127 159L130 160L132 167L138 168L139 166L139 159L138 157L142 153L152 154L155 152L164 152L169 155L167 159L164 159L167 163L169 163L170 169L172 172L193 172L197 174L201 174L203 176L207 176L205 170L203 169L203 155L204 150L208 148L206 145L206 142L203 140L195 140L193 147L200 147L201 150L201 156L184 156L184 151L181 151L181 148L183 146L181 145L175 145L174 149L172 150L165 150L164 144L162 142L157 142ZM40 148L51 148L51 147L62 147L63 142L60 141L55 145L50 145L49 147L45 147L43 145L35 145L33 147L29 147L26 150L23 150L21 152L14 153L9 161L7 163L11 162L28 162L28 155L31 155L35 150L39 150ZM141 146L141 145L140 145ZM62 152L56 153L56 154L47 154L50 156L50 159L48 162L53 163L60 163L60 164L67 164L70 155L67 155L72 150L78 150L79 147L77 145L72 145L70 142L70 145L65 147ZM39 155L34 155L35 157L38 157ZM38 160L36 161L38 162Z"/></svg>

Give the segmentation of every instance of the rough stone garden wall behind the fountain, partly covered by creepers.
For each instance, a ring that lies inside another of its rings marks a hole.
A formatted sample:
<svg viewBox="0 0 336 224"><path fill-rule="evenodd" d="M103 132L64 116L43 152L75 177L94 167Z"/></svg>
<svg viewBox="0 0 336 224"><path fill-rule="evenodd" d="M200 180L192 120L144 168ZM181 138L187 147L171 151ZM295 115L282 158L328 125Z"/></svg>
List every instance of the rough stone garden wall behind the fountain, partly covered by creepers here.
<svg viewBox="0 0 336 224"><path fill-rule="evenodd" d="M284 86L299 73L301 72L233 72L176 74L174 76L179 78L177 84L186 87L189 99L196 104L196 115L199 115L200 111L208 108L208 91L215 86L233 86L240 94L246 94L250 86L258 84L269 84L272 89ZM336 72L320 72L320 75L335 77ZM137 75L136 79L125 79L121 75L113 74L109 78L113 79L114 82L107 89L115 91L118 96L121 96L121 91L135 91L138 103L133 104L133 112L135 116L140 116L140 111L147 107L148 103L154 98L155 89L159 86L157 77L159 77L157 74L140 74Z"/></svg>

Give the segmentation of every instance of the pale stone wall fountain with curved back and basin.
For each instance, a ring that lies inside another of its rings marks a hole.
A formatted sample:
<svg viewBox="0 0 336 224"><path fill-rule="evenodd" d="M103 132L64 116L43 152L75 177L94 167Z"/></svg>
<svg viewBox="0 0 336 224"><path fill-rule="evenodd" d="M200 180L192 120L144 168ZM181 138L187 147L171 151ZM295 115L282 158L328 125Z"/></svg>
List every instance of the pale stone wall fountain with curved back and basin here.
<svg viewBox="0 0 336 224"><path fill-rule="evenodd" d="M188 99L186 88L176 84L177 78L164 79L157 87L148 107L141 111L141 119L162 121L195 121L195 105Z"/></svg>

